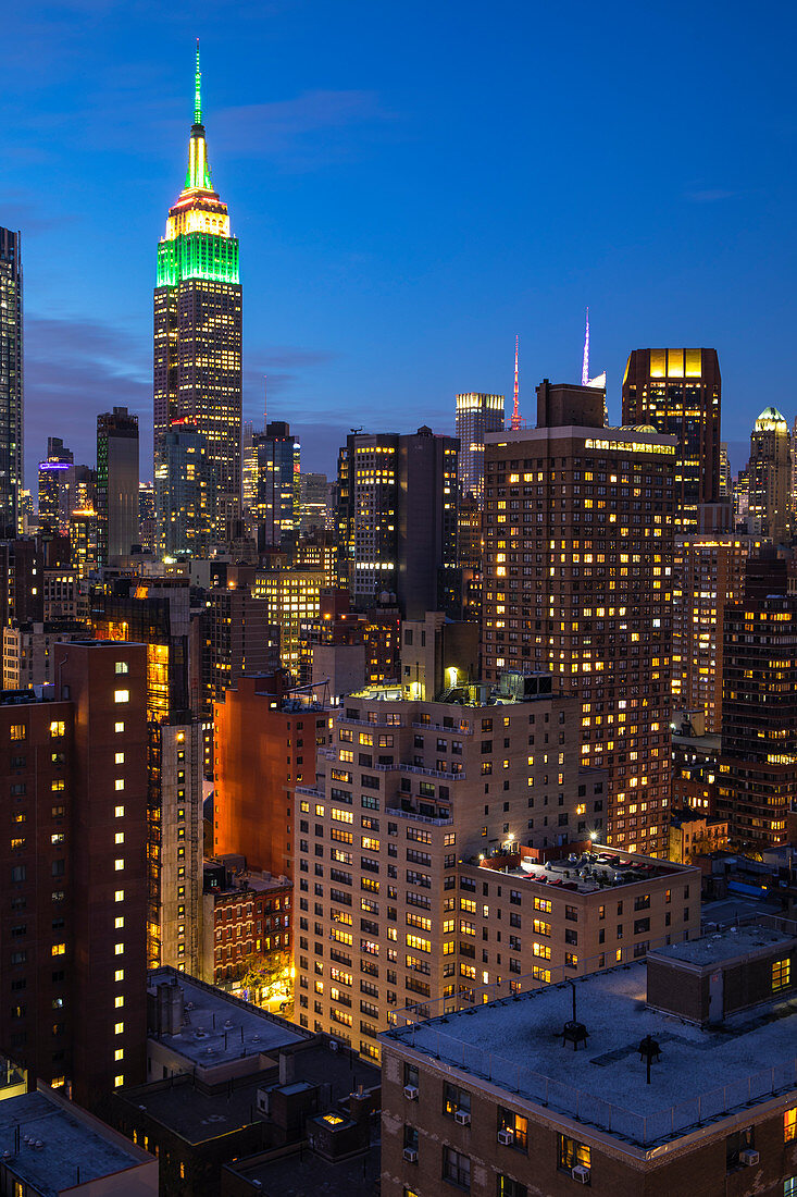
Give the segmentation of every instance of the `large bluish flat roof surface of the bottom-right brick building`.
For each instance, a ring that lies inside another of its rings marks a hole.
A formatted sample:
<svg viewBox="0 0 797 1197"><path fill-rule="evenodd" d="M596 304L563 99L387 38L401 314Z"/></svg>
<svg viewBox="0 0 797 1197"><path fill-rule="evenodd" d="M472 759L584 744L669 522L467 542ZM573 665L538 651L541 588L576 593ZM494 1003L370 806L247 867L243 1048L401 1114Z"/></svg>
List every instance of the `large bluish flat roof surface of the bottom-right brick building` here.
<svg viewBox="0 0 797 1197"><path fill-rule="evenodd" d="M646 1002L644 961L592 973L574 983L577 1019L588 1045L562 1046L572 1019L570 983L383 1034L456 1071L577 1117L629 1143L651 1147L712 1118L797 1084L797 1001L759 1007L702 1029L653 1010ZM662 1050L646 1083L639 1043Z"/></svg>

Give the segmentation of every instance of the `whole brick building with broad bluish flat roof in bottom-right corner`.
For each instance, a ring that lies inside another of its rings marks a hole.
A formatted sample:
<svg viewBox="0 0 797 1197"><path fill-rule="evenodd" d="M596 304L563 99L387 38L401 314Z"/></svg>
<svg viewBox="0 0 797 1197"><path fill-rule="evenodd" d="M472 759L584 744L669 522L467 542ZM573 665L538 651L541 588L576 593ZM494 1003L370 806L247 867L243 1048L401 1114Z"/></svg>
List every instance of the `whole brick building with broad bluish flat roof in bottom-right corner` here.
<svg viewBox="0 0 797 1197"><path fill-rule="evenodd" d="M791 1197L791 928L397 1025L382 1035L383 1197Z"/></svg>

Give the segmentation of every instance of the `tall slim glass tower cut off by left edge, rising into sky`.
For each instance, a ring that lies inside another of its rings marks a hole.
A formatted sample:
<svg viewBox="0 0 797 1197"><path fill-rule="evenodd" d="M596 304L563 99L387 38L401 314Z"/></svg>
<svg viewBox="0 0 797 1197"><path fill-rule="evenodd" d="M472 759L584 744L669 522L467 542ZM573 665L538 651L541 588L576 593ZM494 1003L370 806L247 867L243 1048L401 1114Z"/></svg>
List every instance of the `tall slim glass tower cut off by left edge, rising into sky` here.
<svg viewBox="0 0 797 1197"><path fill-rule="evenodd" d="M22 533L23 488L22 235L0 229L0 535Z"/></svg>

